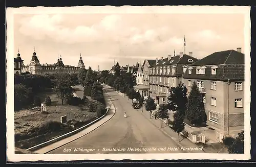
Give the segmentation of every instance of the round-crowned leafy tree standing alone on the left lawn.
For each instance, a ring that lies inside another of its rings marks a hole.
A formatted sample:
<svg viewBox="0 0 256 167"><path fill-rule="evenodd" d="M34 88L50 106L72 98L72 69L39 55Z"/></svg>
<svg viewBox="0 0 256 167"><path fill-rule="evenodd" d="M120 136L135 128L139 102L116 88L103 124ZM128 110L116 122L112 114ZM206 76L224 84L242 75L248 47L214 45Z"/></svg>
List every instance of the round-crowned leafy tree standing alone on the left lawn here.
<svg viewBox="0 0 256 167"><path fill-rule="evenodd" d="M63 101L70 97L73 97L74 89L71 87L73 82L68 73L58 73L55 78L55 86L53 90L56 92L57 97L61 99L61 105Z"/></svg>

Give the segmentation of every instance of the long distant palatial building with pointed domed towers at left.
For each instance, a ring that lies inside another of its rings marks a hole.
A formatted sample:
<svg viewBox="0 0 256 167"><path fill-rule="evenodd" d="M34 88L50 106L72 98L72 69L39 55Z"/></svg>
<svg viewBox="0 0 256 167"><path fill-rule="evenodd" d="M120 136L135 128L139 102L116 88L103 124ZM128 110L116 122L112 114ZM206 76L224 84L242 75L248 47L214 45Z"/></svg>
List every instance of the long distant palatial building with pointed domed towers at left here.
<svg viewBox="0 0 256 167"><path fill-rule="evenodd" d="M18 68L20 68L20 70L18 70ZM65 65L61 56L54 64L40 64L39 59L35 53L35 49L30 64L28 65L24 65L19 53L17 54L17 57L14 58L14 70L16 69L16 74L19 74L19 71L20 73L29 72L31 74L55 73L57 70L63 70L69 74L72 74L78 73L80 68L85 68L81 54L77 66Z"/></svg>

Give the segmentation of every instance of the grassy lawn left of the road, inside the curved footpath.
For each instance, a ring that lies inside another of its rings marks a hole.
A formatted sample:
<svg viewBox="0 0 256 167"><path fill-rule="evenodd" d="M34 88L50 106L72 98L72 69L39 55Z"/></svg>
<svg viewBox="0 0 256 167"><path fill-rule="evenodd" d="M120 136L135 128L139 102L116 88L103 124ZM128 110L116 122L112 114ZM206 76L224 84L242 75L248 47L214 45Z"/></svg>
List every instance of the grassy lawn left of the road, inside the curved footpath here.
<svg viewBox="0 0 256 167"><path fill-rule="evenodd" d="M62 106L61 100L57 99L56 94L53 94L53 92L50 91L40 94L41 102L44 102L47 96L50 96L52 100L52 106L47 106L47 113L41 113L40 107L15 111L15 147L27 149L74 130L75 128L69 125L61 125L62 129L60 131L42 134L40 136L31 134L31 130L45 124L46 122L60 122L60 117L63 115L67 115L67 121L75 120L82 122L96 117L96 113L88 112L88 108L85 106L78 107L67 104Z"/></svg>

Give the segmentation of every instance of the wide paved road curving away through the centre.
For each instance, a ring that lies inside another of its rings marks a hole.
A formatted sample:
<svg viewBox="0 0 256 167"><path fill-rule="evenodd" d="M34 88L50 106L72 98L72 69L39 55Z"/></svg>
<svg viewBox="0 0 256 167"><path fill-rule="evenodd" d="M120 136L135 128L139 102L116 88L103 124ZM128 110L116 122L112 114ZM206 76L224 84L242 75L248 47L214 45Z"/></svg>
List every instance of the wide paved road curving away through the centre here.
<svg viewBox="0 0 256 167"><path fill-rule="evenodd" d="M135 110L124 97L110 88L104 89L116 108L114 117L86 136L48 154L186 153L142 115L141 111ZM126 118L123 116L124 111Z"/></svg>

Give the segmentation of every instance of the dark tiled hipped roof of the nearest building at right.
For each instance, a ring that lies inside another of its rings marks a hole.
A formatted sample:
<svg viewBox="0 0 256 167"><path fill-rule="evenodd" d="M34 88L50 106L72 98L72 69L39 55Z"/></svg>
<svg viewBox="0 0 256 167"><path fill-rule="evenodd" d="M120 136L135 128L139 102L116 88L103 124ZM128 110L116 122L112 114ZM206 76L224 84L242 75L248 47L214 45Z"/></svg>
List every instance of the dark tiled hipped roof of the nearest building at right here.
<svg viewBox="0 0 256 167"><path fill-rule="evenodd" d="M234 51L221 51L210 54L209 56L198 60L197 62L187 65L193 67L191 74L185 71L183 78L186 79L202 79L202 80L219 80L233 81L244 80L244 54ZM197 66L205 66L205 74L196 74ZM211 75L211 67L217 66L216 75Z"/></svg>

